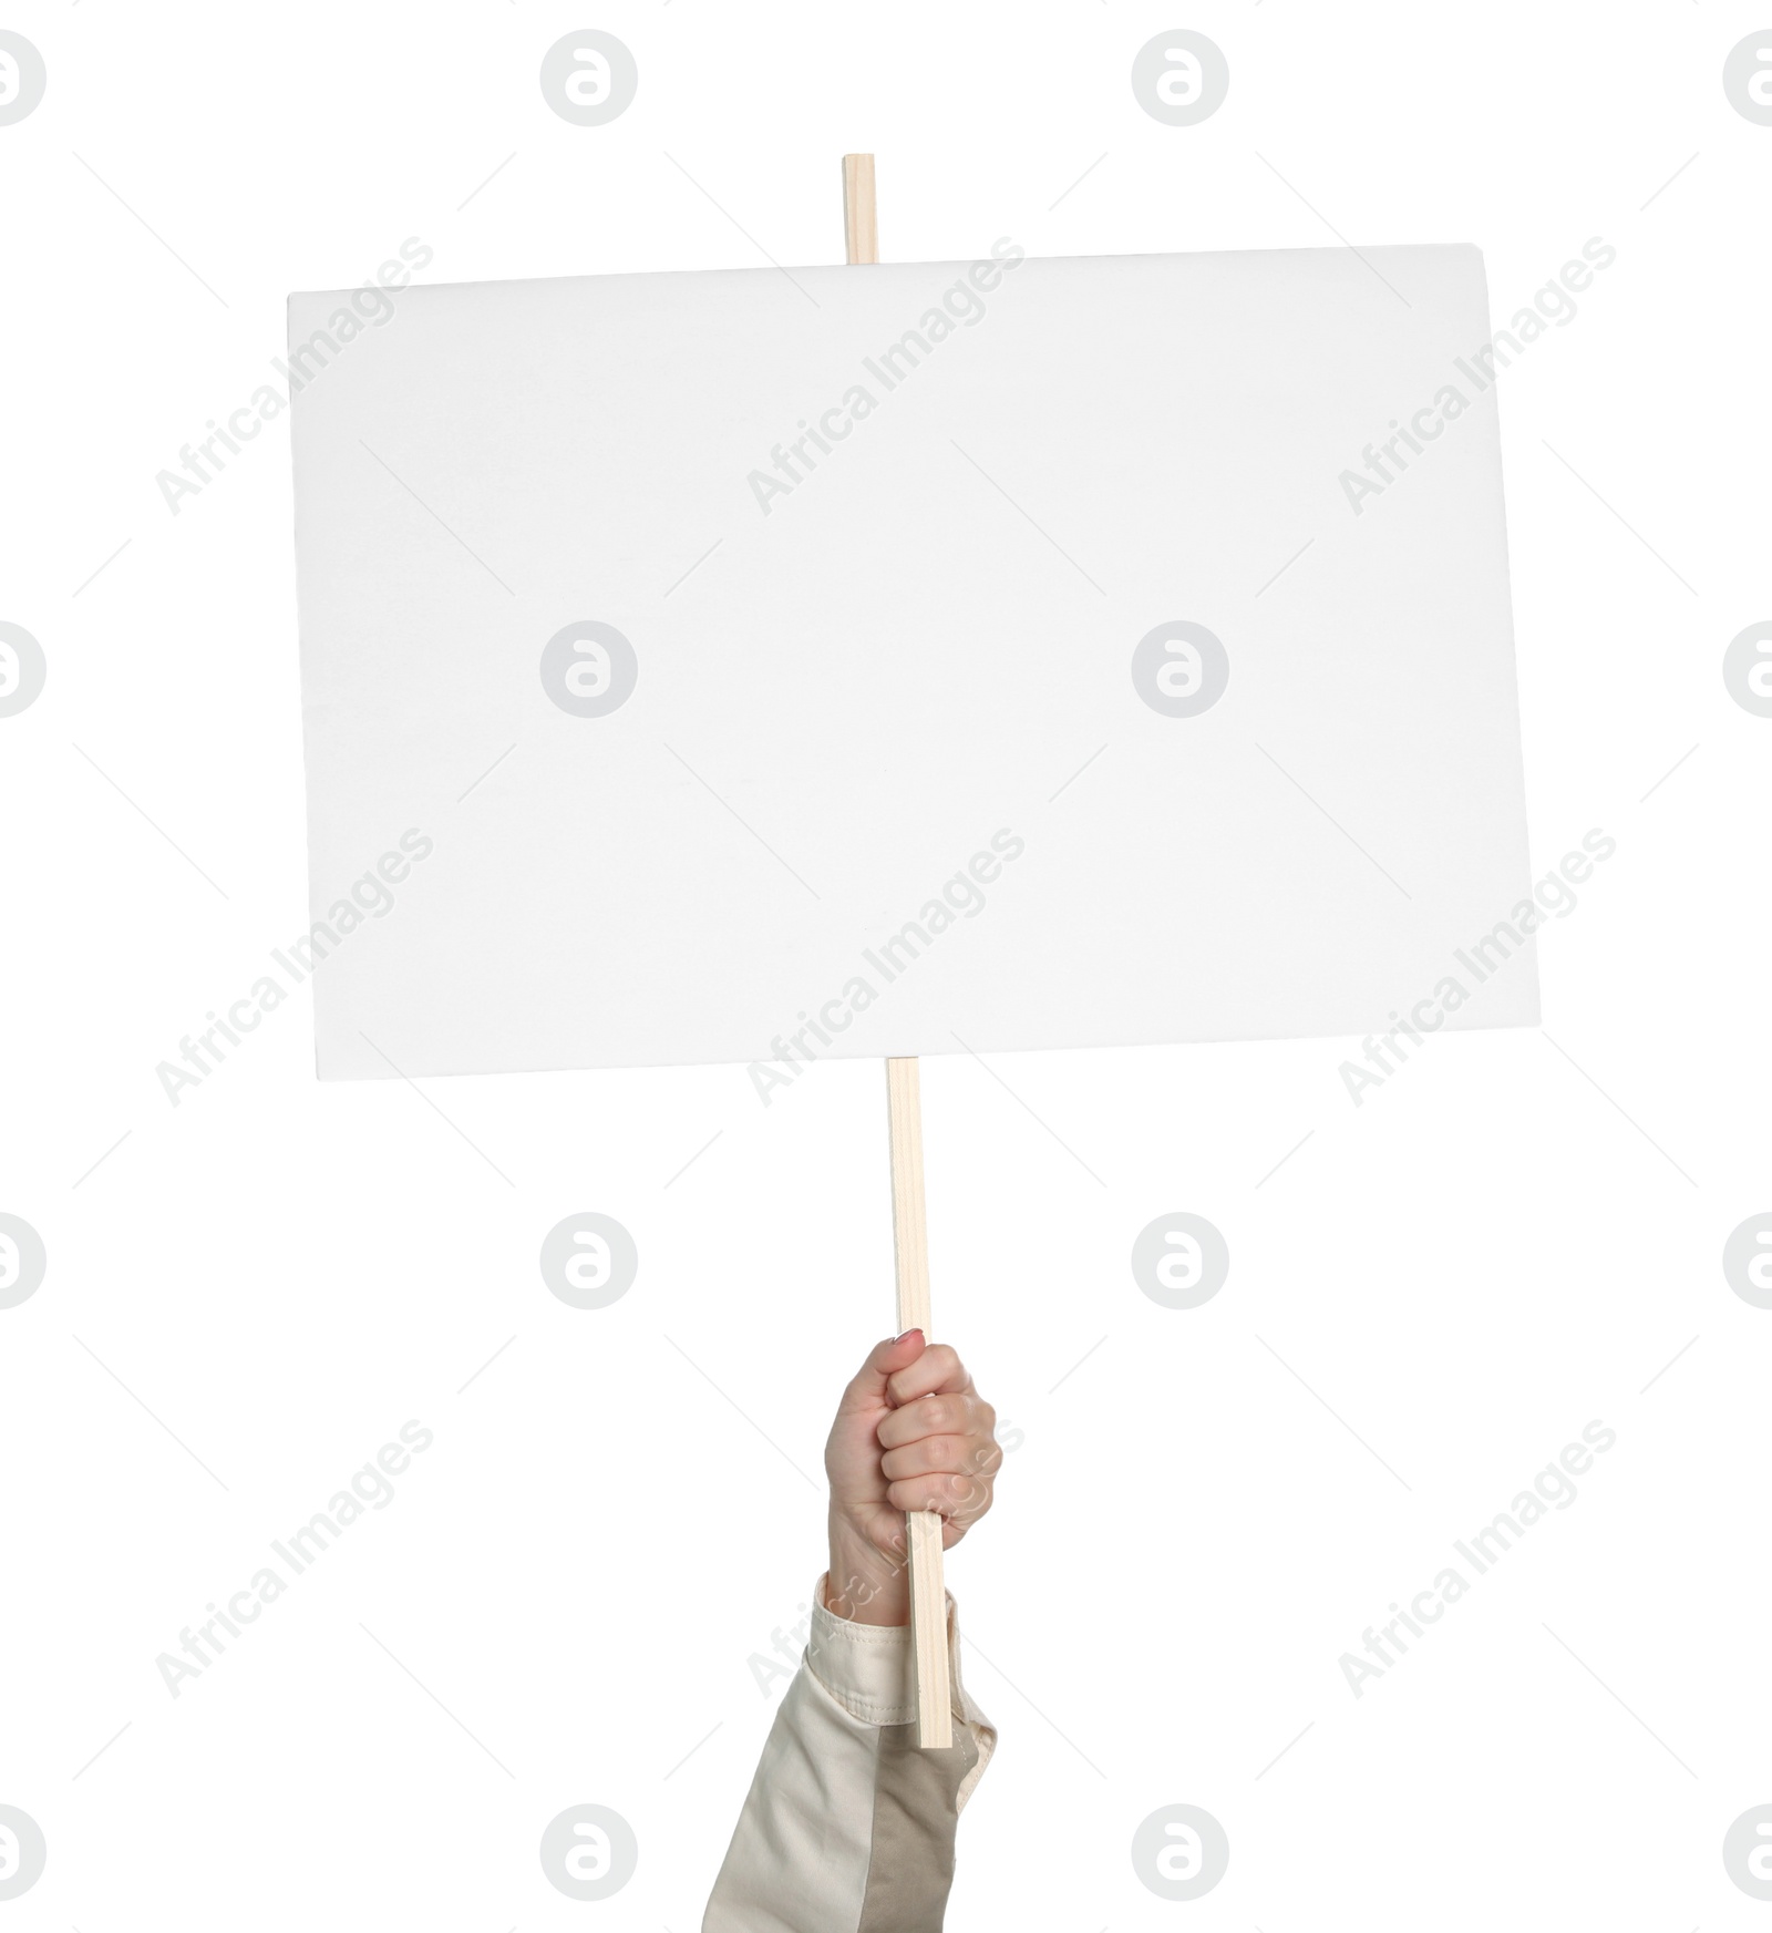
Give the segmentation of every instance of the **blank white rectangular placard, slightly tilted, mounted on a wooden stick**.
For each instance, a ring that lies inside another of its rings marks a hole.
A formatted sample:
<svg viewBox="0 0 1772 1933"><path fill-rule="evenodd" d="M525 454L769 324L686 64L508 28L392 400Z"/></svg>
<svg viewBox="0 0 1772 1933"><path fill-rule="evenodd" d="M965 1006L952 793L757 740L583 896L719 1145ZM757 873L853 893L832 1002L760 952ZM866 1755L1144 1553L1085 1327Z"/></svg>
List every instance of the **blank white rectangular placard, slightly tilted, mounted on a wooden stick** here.
<svg viewBox="0 0 1772 1933"><path fill-rule="evenodd" d="M292 298L323 1077L1536 1019L1476 251L1016 255Z"/></svg>

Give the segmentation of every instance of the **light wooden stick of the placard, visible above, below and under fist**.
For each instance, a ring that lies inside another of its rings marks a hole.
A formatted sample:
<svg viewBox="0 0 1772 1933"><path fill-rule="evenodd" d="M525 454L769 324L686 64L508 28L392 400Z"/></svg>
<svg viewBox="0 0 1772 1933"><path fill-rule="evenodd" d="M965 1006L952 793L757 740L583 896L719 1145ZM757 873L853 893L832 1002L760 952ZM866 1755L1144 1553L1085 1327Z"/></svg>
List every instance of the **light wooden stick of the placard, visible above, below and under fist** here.
<svg viewBox="0 0 1772 1933"><path fill-rule="evenodd" d="M843 157L843 238L850 267L879 261L873 157ZM924 1111L916 1059L887 1061L887 1135L893 1150L893 1258L899 1274L899 1334L929 1336L929 1235L924 1224ZM904 1519L910 1558L910 1641L916 1653L916 1742L939 1751L955 1742L947 1676L947 1587L941 1577L941 1514Z"/></svg>

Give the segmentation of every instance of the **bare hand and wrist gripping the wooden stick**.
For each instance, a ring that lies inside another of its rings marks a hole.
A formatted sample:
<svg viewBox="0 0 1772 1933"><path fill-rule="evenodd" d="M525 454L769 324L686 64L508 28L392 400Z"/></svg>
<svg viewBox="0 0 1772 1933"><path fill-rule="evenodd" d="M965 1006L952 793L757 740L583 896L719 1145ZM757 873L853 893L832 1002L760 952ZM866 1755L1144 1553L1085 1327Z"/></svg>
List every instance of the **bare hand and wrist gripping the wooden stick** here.
<svg viewBox="0 0 1772 1933"><path fill-rule="evenodd" d="M995 1425L997 1411L945 1343L906 1330L873 1347L843 1392L825 1444L831 1612L860 1624L910 1624L904 1512L941 1512L941 1548L951 1550L991 1508L1003 1461Z"/></svg>

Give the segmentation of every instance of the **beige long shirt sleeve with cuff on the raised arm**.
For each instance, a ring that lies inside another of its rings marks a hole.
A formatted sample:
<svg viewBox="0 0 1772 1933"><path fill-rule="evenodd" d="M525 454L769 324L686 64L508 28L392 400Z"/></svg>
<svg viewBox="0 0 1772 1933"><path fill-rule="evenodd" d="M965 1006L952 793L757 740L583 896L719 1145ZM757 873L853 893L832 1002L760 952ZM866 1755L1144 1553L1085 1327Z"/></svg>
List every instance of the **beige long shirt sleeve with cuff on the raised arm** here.
<svg viewBox="0 0 1772 1933"><path fill-rule="evenodd" d="M812 1602L701 1933L939 1933L955 1825L997 1744L960 1684L955 1602L947 1751L916 1747L910 1630L831 1616L823 1577Z"/></svg>

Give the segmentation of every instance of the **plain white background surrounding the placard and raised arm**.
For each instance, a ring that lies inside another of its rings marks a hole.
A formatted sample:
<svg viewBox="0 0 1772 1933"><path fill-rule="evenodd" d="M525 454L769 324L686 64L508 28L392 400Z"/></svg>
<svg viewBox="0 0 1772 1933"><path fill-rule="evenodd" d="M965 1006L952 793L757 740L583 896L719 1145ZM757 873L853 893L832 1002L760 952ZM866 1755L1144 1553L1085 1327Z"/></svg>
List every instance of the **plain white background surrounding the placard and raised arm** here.
<svg viewBox="0 0 1772 1933"><path fill-rule="evenodd" d="M1358 1110L1353 1042L926 1067L939 1322L1024 1432L951 1564L1003 1747L949 1921L1760 1925L1720 1846L1772 1802L1772 1316L1720 1251L1772 1208L1772 723L1720 657L1768 615L1772 130L1720 72L1762 12L1188 8L1231 66L1188 130L1129 87L1179 15L1129 0L599 8L642 75L601 130L537 89L587 19L4 21L50 75L0 128L0 617L48 655L0 721L0 1208L48 1245L0 1313L0 1802L50 1850L6 1923L698 1923L891 1324L879 1071L767 1111L742 1069L321 1090L303 995L170 1108L155 1065L305 924L303 822L286 441L176 518L155 476L288 290L406 236L437 280L839 261L873 149L887 259L1333 224L1476 242L1500 319L1617 247L1501 396L1534 870L1619 847L1538 949L1544 1032ZM535 1266L586 1208L640 1245L601 1313ZM1179 1208L1231 1247L1192 1313L1127 1266ZM394 1504L170 1699L157 1653L408 1417ZM1357 1701L1337 1657L1592 1417L1579 1502ZM640 1836L601 1906L535 1856L580 1802ZM1190 1906L1129 1861L1175 1802L1231 1840Z"/></svg>

